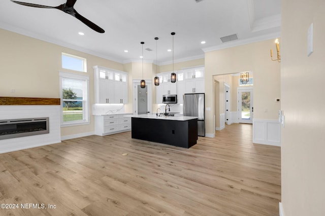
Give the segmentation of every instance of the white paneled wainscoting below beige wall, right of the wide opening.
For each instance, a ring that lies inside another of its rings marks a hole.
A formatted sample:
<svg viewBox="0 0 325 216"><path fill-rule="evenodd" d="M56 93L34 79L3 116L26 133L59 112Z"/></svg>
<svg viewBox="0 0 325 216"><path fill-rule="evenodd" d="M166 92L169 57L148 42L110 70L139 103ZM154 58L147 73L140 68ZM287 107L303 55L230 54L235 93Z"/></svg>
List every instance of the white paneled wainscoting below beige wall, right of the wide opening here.
<svg viewBox="0 0 325 216"><path fill-rule="evenodd" d="M279 121L253 119L253 143L281 146L281 125Z"/></svg>

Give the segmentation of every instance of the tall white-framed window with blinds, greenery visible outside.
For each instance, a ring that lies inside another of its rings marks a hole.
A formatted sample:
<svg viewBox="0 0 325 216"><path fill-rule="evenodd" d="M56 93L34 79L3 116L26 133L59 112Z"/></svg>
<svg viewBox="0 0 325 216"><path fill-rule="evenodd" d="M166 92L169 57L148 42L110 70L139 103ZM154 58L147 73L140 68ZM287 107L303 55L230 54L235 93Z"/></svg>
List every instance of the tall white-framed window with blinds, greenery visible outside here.
<svg viewBox="0 0 325 216"><path fill-rule="evenodd" d="M89 77L60 73L61 126L89 123Z"/></svg>

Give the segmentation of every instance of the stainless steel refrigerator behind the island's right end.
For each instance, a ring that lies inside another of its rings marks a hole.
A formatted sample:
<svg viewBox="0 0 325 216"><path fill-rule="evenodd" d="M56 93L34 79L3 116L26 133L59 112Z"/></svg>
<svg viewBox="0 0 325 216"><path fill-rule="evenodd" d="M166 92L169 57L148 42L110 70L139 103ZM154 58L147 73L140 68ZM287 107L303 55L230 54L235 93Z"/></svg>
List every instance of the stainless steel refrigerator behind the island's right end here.
<svg viewBox="0 0 325 216"><path fill-rule="evenodd" d="M204 93L183 95L183 116L198 117L198 135L205 136Z"/></svg>

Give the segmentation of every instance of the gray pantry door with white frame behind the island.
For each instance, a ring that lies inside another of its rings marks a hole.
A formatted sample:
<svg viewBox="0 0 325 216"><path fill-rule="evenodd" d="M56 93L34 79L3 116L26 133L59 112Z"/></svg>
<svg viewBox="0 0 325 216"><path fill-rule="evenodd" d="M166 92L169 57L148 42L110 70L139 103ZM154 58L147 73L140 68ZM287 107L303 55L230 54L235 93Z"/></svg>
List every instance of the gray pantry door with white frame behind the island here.
<svg viewBox="0 0 325 216"><path fill-rule="evenodd" d="M135 115L152 113L151 82L146 80L146 87L140 87L140 80L133 81L133 113Z"/></svg>

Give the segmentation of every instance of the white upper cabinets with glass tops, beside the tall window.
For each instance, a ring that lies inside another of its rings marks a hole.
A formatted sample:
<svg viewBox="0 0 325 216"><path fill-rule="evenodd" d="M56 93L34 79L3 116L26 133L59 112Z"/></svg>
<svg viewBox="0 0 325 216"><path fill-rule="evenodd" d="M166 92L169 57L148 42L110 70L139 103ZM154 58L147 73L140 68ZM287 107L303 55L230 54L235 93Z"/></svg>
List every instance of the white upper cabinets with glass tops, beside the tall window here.
<svg viewBox="0 0 325 216"><path fill-rule="evenodd" d="M94 66L95 103L127 103L127 73Z"/></svg>

